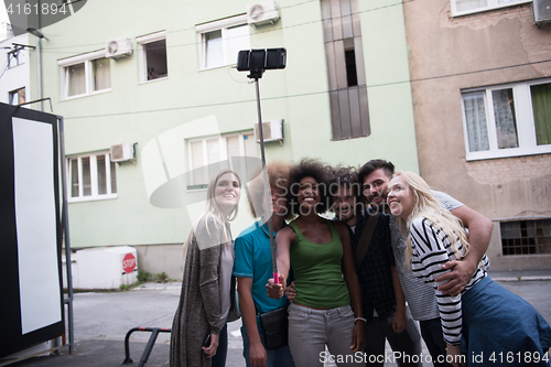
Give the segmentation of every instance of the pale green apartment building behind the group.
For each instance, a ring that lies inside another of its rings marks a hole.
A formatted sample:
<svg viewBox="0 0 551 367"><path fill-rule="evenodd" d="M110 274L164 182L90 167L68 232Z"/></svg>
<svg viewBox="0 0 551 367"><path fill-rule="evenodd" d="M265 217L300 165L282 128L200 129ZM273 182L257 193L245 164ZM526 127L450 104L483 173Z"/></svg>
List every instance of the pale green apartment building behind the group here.
<svg viewBox="0 0 551 367"><path fill-rule="evenodd" d="M401 1L96 0L42 32L28 99L64 117L74 249L132 246L139 269L181 277L208 168L260 158L239 50L287 48L259 82L268 162L419 172ZM252 220L241 195L234 235Z"/></svg>

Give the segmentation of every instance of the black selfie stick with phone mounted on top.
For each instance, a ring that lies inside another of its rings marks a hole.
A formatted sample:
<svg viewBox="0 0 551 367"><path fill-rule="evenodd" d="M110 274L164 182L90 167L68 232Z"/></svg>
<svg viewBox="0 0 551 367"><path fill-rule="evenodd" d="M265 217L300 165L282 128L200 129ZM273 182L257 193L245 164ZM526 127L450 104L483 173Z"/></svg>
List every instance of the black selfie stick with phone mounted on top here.
<svg viewBox="0 0 551 367"><path fill-rule="evenodd" d="M262 77L266 69L285 68L287 51L285 48L266 48L266 50L244 50L237 55L237 69L239 72L250 72L247 77L255 79L257 87L257 109L258 109L258 131L260 134L260 155L262 158L262 180L264 183L264 204L266 211L270 209L270 185L268 172L266 171L264 156L264 136L262 126L262 116L260 111L260 88L258 79ZM276 244L273 241L272 216L268 218L268 236L270 237L270 247L272 251L272 272L273 282L279 284L278 266L276 263Z"/></svg>

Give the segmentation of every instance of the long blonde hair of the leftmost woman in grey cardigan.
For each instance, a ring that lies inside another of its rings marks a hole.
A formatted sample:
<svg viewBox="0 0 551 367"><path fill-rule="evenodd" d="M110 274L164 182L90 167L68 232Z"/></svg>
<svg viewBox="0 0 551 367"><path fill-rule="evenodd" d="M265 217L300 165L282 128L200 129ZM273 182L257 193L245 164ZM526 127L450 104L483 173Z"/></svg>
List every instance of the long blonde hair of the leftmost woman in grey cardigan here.
<svg viewBox="0 0 551 367"><path fill-rule="evenodd" d="M215 199L216 184L218 183L218 180L223 175L225 175L226 173L231 173L237 179L237 181L239 183L239 186L241 186L241 179L239 179L239 176L237 175L237 173L235 173L231 170L222 170L220 172L218 172L218 174L215 177L213 177L210 180L210 182L208 183L208 186L207 186L207 198L206 198L205 209L203 211L203 213L201 214L201 216L198 217L198 219L193 224L192 230L190 231L190 236L187 236L187 239L184 242L184 247L183 247L184 260L185 260L185 257L187 255L187 248L190 247L190 242L193 240L193 237L195 235L193 228L195 228L197 226L197 224L203 218L205 218L205 225L206 225L206 229L207 229L208 235L210 235L210 228L208 228L208 223L209 222L215 223L216 226L218 226L218 224L222 223L223 228L216 228L216 230L220 230L222 229L223 233L224 233L224 240L225 240L225 242L227 244L229 241L229 238L230 238L230 236L228 234L229 229L228 229L228 227L226 227L226 223L227 222L231 222L235 218L237 218L238 205L236 204L236 206L234 206L231 208L231 212L229 212L228 217L225 218L224 215L222 214L222 211L220 211L220 207L219 207L218 203ZM208 220L209 218L214 218L216 220Z"/></svg>

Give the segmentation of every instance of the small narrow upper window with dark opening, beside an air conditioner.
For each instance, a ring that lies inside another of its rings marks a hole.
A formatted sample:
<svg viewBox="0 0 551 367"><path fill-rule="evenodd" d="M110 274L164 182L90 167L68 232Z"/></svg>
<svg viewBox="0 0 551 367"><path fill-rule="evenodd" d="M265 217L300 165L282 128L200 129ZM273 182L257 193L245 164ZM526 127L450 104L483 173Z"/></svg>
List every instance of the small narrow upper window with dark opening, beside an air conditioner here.
<svg viewBox="0 0 551 367"><path fill-rule="evenodd" d="M166 78L166 32L148 34L136 41L140 46L140 82Z"/></svg>

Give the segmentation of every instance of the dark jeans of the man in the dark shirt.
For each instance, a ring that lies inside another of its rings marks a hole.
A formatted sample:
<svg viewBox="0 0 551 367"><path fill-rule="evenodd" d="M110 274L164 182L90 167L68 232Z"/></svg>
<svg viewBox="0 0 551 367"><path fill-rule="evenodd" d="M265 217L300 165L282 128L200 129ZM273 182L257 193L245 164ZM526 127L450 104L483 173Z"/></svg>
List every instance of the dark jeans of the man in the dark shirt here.
<svg viewBox="0 0 551 367"><path fill-rule="evenodd" d="M398 366L422 366L420 355L422 353L421 335L417 330L413 319L408 310L408 326L403 332L397 334L392 330L393 315L388 317L374 317L372 321L366 323L366 347L364 352L371 356L370 366L383 366L385 356L385 341L392 348L393 353L401 353L404 358L397 359Z"/></svg>

